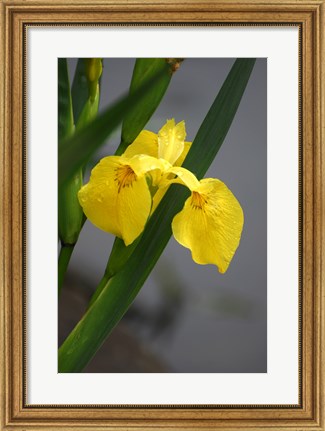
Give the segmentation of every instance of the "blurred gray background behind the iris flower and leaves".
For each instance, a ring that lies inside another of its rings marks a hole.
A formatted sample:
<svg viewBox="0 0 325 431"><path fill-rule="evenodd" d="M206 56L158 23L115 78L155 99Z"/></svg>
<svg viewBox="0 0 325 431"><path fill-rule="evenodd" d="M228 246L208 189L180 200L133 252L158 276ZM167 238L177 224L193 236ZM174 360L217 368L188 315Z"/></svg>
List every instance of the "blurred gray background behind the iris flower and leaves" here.
<svg viewBox="0 0 325 431"><path fill-rule="evenodd" d="M146 129L185 120L192 141L233 59L186 59ZM73 76L76 61L69 61ZM105 59L100 109L128 89L134 59ZM128 313L86 372L267 371L267 60L258 59L234 122L206 177L224 181L245 225L226 274L197 265L173 238ZM113 154L117 132L95 160ZM89 173L88 173L89 175ZM113 236L86 222L59 303L59 343L83 314Z"/></svg>

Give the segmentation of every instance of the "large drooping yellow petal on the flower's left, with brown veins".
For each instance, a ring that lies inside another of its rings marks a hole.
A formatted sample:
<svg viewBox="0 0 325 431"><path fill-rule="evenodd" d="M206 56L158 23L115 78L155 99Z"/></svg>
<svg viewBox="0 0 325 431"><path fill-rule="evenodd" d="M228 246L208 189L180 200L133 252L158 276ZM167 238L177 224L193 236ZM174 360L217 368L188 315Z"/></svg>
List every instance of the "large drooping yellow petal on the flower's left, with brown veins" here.
<svg viewBox="0 0 325 431"><path fill-rule="evenodd" d="M145 175L136 173L132 159L119 156L102 159L78 197L88 219L126 245L141 234L151 210Z"/></svg>

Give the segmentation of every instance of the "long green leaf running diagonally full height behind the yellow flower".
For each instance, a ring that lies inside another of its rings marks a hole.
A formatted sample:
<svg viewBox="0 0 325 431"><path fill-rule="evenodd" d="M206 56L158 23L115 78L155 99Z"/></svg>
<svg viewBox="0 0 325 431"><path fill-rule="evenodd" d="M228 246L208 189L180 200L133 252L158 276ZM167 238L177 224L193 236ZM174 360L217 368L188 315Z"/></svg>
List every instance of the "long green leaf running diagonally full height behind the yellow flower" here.
<svg viewBox="0 0 325 431"><path fill-rule="evenodd" d="M236 60L205 117L184 166L199 178L214 160L236 114L254 59ZM119 322L150 274L171 235L171 222L189 195L173 185L150 218L127 264L111 278L59 349L59 372L80 372Z"/></svg>

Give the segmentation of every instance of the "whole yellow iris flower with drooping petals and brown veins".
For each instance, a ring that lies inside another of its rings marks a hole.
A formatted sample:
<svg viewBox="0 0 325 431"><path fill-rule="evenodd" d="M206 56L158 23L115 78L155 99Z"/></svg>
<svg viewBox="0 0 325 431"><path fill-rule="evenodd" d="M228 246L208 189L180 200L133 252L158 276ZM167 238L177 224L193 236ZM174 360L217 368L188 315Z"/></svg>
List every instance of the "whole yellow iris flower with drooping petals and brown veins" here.
<svg viewBox="0 0 325 431"><path fill-rule="evenodd" d="M181 167L191 143L184 122L168 120L158 134L142 131L122 156L108 156L92 170L78 197L88 219L131 244L172 183L191 196L173 219L175 239L199 264L214 264L224 273L239 245L242 208L220 180L199 181Z"/></svg>

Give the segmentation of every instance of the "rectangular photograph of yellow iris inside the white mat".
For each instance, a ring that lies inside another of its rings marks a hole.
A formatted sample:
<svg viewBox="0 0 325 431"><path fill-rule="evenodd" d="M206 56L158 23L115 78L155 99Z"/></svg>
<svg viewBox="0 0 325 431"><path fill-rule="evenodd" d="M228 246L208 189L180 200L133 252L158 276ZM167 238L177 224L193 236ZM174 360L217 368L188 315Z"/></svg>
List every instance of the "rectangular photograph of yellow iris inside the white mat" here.
<svg viewBox="0 0 325 431"><path fill-rule="evenodd" d="M58 59L58 139L59 372L266 373L267 59Z"/></svg>

